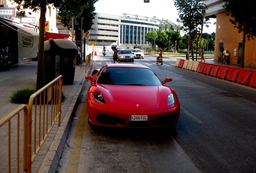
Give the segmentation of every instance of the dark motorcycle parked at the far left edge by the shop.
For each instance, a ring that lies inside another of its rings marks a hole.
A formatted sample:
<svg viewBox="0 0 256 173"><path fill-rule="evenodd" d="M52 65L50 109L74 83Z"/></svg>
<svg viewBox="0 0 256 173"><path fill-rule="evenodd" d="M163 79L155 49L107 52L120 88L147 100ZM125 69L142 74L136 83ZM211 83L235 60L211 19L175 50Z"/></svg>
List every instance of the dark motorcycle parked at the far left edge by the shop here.
<svg viewBox="0 0 256 173"><path fill-rule="evenodd" d="M8 46L1 50L0 71L9 70L9 68L12 66L12 55L8 52L8 50Z"/></svg>

